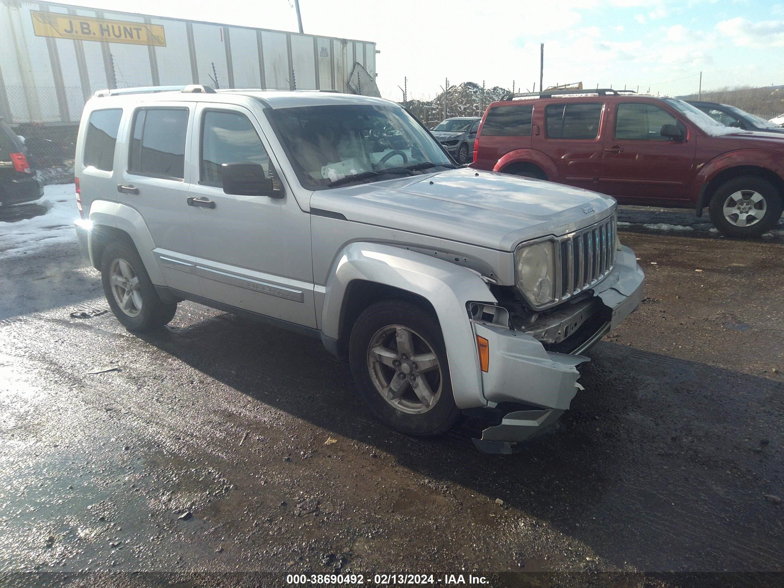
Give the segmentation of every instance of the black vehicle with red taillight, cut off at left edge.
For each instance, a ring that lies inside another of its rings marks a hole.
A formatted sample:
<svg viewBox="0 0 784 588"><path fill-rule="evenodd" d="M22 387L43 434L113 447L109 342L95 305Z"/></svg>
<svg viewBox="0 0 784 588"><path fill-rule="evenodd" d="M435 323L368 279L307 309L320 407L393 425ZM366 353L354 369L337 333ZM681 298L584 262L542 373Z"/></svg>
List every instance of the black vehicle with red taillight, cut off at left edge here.
<svg viewBox="0 0 784 588"><path fill-rule="evenodd" d="M0 118L0 205L38 200L43 194L24 143Z"/></svg>

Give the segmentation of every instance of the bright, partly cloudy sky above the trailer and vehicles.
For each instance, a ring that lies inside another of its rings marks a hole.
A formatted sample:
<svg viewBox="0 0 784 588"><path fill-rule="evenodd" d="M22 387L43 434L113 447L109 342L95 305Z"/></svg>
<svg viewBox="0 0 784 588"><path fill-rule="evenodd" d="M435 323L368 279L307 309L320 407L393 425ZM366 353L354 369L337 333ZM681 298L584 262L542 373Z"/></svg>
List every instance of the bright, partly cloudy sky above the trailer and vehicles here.
<svg viewBox="0 0 784 588"><path fill-rule="evenodd" d="M294 0L85 0L104 9L296 31ZM377 43L382 96L430 98L450 84L652 93L784 84L784 3L765 0L300 0L306 33Z"/></svg>

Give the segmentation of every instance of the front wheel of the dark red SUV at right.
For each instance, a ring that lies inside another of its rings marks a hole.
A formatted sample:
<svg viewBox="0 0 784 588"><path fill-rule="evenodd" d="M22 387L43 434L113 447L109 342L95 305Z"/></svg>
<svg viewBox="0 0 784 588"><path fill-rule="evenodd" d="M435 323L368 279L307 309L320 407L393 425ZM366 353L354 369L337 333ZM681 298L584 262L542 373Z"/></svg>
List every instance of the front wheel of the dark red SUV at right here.
<svg viewBox="0 0 784 588"><path fill-rule="evenodd" d="M759 237L779 222L782 198L768 180L741 176L713 193L708 212L713 226L728 237Z"/></svg>

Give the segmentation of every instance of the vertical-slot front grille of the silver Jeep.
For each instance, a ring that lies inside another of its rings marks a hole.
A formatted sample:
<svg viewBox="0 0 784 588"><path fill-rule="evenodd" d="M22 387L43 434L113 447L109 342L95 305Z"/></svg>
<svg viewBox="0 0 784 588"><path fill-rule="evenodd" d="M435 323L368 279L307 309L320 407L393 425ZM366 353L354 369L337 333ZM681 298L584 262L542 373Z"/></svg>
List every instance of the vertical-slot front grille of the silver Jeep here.
<svg viewBox="0 0 784 588"><path fill-rule="evenodd" d="M597 285L615 265L615 214L558 238L559 298L565 300Z"/></svg>

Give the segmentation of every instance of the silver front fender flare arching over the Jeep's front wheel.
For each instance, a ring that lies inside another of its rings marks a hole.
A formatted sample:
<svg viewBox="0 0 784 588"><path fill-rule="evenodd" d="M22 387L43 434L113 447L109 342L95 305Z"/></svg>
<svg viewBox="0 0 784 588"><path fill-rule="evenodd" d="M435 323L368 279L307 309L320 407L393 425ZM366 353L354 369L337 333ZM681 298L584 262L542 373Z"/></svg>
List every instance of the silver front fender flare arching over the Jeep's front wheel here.
<svg viewBox="0 0 784 588"><path fill-rule="evenodd" d="M458 408L487 405L467 302L496 303L481 277L423 253L393 245L355 242L336 257L327 278L321 332L332 339L340 332L343 299L352 281L371 281L412 292L433 305L444 336L452 392Z"/></svg>

